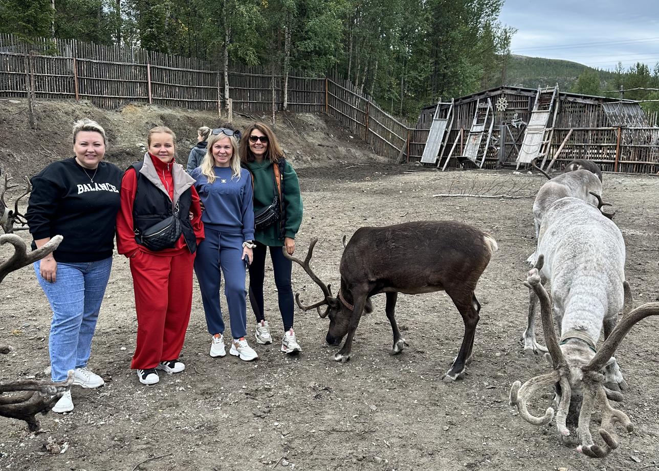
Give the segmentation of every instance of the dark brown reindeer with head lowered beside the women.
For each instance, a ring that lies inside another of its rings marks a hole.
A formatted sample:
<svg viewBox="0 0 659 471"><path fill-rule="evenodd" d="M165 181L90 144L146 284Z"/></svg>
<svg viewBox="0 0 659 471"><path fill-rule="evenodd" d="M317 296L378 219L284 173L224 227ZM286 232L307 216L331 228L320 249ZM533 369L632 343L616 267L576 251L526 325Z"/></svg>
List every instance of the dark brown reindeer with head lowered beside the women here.
<svg viewBox="0 0 659 471"><path fill-rule="evenodd" d="M302 305L303 311L318 309L320 317L329 316L326 340L338 345L347 334L343 348L334 360L347 361L351 356L353 336L362 312L372 311L370 297L385 293L386 313L393 331L393 349L398 354L407 342L398 330L395 305L398 293L420 294L444 290L453 300L465 323L465 335L453 366L444 375L446 382L455 381L471 362L474 332L480 319L480 303L474 295L478 278L497 250L492 236L467 224L455 221L407 222L382 228L360 228L345 246L341 257L341 288L333 297L309 267L317 238L312 239L306 259L301 261L284 255L301 265L320 286L324 299ZM327 305L324 313L320 306Z"/></svg>

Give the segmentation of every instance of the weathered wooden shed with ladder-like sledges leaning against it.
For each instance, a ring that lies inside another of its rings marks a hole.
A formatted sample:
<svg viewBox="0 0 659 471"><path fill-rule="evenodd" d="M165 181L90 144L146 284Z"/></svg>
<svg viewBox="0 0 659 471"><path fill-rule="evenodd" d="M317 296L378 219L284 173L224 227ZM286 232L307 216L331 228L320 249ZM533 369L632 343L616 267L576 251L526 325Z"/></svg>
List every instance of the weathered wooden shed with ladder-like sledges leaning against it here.
<svg viewBox="0 0 659 471"><path fill-rule="evenodd" d="M440 138L430 133L433 123L442 125L438 117L451 123ZM429 134L442 140L434 159L423 152ZM553 168L561 168L585 158L606 171L659 171L656 115L648 119L633 100L561 92L558 86L500 86L427 106L409 146L410 162L423 159L440 168L517 167L537 157L544 168L552 159Z"/></svg>

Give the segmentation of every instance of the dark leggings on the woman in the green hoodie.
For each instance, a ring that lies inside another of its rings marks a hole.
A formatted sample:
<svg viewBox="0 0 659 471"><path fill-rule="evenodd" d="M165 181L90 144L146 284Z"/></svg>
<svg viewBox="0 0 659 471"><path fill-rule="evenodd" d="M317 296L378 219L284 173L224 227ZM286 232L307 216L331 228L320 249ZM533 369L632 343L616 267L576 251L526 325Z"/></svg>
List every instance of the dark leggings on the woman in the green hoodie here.
<svg viewBox="0 0 659 471"><path fill-rule="evenodd" d="M256 321L264 321L263 281L266 270L266 251L268 246L256 242L254 260L249 267L249 301ZM284 257L281 247L270 247L272 269L275 272L275 286L279 295L279 312L284 324L284 331L293 327L293 288L291 287L291 270L293 263Z"/></svg>

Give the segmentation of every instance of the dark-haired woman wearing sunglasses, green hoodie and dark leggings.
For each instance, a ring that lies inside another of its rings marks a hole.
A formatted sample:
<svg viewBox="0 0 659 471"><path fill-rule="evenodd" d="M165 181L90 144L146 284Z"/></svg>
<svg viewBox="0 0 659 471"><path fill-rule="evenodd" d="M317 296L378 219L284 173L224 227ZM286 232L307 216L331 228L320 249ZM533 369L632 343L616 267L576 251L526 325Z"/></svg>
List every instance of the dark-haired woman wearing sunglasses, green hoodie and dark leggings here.
<svg viewBox="0 0 659 471"><path fill-rule="evenodd" d="M264 317L263 282L266 266L266 251L270 247L270 258L275 274L275 286L279 296L279 311L283 321L284 335L281 351L297 354L302 348L293 332L293 288L291 288L292 263L284 257L281 247L287 253L295 251L295 234L302 223L302 197L297 173L286 161L283 150L272 129L264 123L249 125L240 142L243 165L254 178L254 214L258 216L270 210L272 218L264 224L256 225L256 247L254 259L249 267L249 299L256 315L256 342L272 343L270 326ZM276 217L278 216L278 217Z"/></svg>

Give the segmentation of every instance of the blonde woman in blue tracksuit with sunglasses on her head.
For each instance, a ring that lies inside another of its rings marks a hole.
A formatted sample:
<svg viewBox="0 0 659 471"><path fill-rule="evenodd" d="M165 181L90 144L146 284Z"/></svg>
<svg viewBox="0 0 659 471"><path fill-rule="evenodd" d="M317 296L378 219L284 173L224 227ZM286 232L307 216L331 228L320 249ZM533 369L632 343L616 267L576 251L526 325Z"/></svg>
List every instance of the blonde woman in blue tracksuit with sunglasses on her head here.
<svg viewBox="0 0 659 471"><path fill-rule="evenodd" d="M194 271L202 292L208 332L213 336L210 356L225 356L224 321L219 305L221 274L231 321L229 354L250 361L258 355L247 344L245 265L254 247L254 192L250 173L241 168L238 141L232 129L217 128L208 138L208 152L192 172L204 205L206 239L199 244Z"/></svg>

